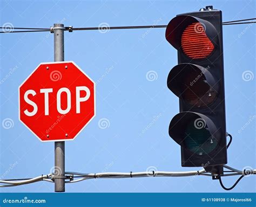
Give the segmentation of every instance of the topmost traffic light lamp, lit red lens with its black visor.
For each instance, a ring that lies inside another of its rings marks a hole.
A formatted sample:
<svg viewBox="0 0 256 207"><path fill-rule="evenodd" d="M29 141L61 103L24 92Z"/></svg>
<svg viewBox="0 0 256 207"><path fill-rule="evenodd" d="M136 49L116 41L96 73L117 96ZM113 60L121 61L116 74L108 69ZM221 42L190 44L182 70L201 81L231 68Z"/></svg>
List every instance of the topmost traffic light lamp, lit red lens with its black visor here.
<svg viewBox="0 0 256 207"><path fill-rule="evenodd" d="M207 58L218 41L217 31L210 22L188 15L174 17L167 25L165 37L191 59Z"/></svg>

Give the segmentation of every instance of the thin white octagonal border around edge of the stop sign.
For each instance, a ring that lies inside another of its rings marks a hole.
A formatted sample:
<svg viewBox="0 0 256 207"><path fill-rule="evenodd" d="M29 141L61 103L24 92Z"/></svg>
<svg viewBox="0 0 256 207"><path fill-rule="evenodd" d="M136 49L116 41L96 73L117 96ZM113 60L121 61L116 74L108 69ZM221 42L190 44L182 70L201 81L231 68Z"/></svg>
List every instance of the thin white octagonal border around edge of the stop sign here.
<svg viewBox="0 0 256 207"><path fill-rule="evenodd" d="M20 103L20 97L19 97L19 89L21 88L21 86L31 77L31 75L37 70L37 68L41 65L47 65L47 64L59 64L59 63L72 63L73 65L75 65L84 75L86 75L87 78L89 78L92 82L93 82L93 89L94 89L94 115L92 116L92 118L86 123L86 125L84 125L84 127L82 129L80 129L80 131L77 133L77 135L75 137L73 137L73 139L63 139L63 140L41 140L28 126L26 126L26 124L21 120L21 112L20 112L20 108L21 108L21 103ZM82 130L91 122L91 120L93 118L95 118L96 116L96 84L95 81L93 81L89 75L87 75L74 61L60 61L60 62L46 62L46 63L41 63L39 64L35 70L33 70L29 76L22 82L21 85L19 85L18 87L18 103L19 103L19 108L18 108L18 113L19 113L19 121L21 121L23 123L23 125L25 125L26 128L28 128L30 130L30 132L35 135L37 137L37 139L39 139L41 142L61 142L61 141L73 141L76 139L76 137L78 136L78 134L80 134L82 132Z"/></svg>

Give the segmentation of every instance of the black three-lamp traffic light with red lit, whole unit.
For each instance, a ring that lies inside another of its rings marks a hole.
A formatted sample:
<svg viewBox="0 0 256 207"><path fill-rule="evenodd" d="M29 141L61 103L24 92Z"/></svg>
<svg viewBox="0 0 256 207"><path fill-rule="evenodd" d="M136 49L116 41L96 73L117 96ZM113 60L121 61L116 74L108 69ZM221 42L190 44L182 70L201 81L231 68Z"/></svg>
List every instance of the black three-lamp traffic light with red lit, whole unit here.
<svg viewBox="0 0 256 207"><path fill-rule="evenodd" d="M221 11L177 15L165 36L178 51L167 86L179 97L169 135L181 146L181 165L219 171L227 163Z"/></svg>

